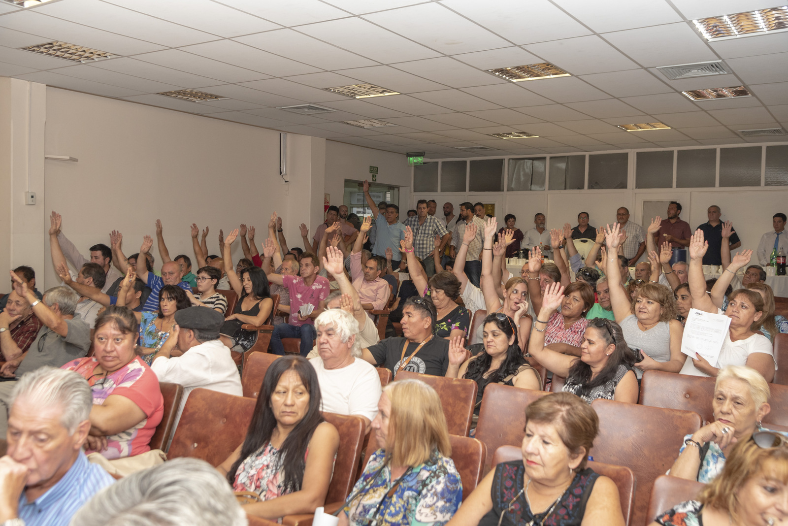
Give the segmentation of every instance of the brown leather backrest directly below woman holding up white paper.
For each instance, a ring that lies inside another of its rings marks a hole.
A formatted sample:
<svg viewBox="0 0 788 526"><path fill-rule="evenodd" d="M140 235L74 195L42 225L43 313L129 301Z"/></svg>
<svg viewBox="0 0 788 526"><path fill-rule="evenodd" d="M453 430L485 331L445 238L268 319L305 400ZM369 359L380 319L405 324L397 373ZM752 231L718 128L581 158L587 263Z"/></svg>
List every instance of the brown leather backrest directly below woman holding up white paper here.
<svg viewBox="0 0 788 526"><path fill-rule="evenodd" d="M713 422L714 382L713 378L706 376L646 371L637 403L665 409L686 409L698 413L707 422Z"/></svg>

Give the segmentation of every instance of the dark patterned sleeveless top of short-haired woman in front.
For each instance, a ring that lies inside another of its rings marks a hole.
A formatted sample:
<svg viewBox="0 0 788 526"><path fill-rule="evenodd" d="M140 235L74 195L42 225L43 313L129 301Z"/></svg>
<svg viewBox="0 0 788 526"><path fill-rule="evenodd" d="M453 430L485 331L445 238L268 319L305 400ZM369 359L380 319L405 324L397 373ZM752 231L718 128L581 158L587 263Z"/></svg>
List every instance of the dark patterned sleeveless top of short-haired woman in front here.
<svg viewBox="0 0 788 526"><path fill-rule="evenodd" d="M495 476L492 479L492 509L481 517L478 526L497 526L501 513L504 520L501 526L516 526L517 524L551 524L552 526L579 526L585 514L585 505L591 496L594 483L599 475L593 469L585 468L575 473L574 480L561 495L560 502L552 509L549 517L545 513L533 514L526 495L523 493L509 505L511 500L525 487L526 469L519 461L501 462L496 465ZM549 508L548 508L549 509Z"/></svg>

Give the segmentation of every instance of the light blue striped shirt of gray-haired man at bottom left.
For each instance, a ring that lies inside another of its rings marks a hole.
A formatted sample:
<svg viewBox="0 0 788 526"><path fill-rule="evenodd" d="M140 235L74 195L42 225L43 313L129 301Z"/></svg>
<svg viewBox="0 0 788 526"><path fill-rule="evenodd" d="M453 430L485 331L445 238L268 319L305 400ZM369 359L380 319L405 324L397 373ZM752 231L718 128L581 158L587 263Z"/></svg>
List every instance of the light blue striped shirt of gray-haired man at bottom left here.
<svg viewBox="0 0 788 526"><path fill-rule="evenodd" d="M80 451L69 471L45 494L28 502L22 492L17 516L26 526L68 526L77 509L114 482L109 473L88 462Z"/></svg>

